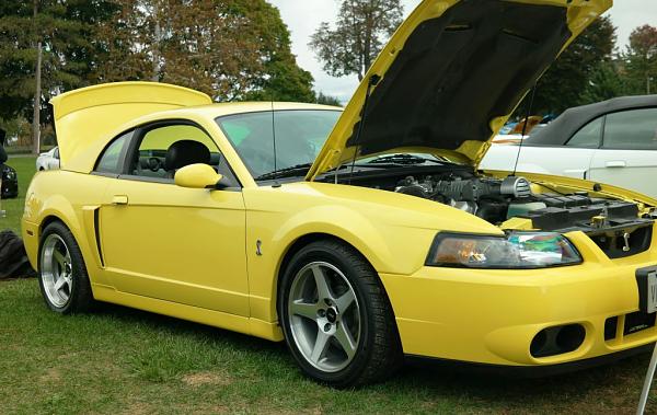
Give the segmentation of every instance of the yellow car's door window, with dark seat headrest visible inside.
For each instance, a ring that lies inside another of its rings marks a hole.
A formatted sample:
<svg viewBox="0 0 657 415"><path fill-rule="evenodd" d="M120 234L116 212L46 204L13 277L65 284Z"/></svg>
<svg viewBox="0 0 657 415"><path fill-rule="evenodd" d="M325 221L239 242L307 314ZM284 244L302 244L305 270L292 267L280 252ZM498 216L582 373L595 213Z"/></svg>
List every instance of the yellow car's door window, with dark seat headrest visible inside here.
<svg viewBox="0 0 657 415"><path fill-rule="evenodd" d="M219 170L221 154L200 128L178 124L147 130L131 160L130 175L173 180L177 170L189 164Z"/></svg>

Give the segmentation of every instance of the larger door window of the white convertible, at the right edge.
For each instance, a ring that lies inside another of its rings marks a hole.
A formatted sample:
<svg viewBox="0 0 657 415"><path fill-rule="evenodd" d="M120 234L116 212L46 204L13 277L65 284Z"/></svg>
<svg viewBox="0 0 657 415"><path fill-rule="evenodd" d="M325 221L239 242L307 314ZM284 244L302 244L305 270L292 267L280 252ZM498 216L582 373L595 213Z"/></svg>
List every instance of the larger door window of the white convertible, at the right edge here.
<svg viewBox="0 0 657 415"><path fill-rule="evenodd" d="M657 150L657 108L607 115L603 147L616 150Z"/></svg>

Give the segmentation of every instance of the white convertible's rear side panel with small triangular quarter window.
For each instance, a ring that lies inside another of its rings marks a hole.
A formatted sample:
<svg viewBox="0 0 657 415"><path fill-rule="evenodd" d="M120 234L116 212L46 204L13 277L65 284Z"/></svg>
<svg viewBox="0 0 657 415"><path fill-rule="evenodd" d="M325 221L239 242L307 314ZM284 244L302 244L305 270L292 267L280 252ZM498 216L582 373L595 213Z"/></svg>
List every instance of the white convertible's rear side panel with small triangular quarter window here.
<svg viewBox="0 0 657 415"><path fill-rule="evenodd" d="M553 174L587 178L588 170L602 136L602 118L579 129L563 146L532 146L531 138L520 146L493 145L481 168L484 170L514 170L518 172ZM565 141L565 139L564 139Z"/></svg>

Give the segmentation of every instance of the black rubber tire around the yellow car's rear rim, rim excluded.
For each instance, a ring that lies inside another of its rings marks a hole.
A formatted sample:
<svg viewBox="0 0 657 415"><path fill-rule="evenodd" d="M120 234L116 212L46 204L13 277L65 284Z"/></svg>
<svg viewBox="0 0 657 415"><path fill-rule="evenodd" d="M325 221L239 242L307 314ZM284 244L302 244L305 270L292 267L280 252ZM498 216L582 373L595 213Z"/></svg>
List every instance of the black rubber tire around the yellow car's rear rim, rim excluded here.
<svg viewBox="0 0 657 415"><path fill-rule="evenodd" d="M68 300L65 303L55 303L46 293L48 274L44 269L44 244L53 238L64 242L70 256L70 285L68 286ZM89 311L94 303L89 274L80 246L71 231L61 222L48 224L41 237L38 249L38 285L42 296L48 308L60 314L72 314Z"/></svg>

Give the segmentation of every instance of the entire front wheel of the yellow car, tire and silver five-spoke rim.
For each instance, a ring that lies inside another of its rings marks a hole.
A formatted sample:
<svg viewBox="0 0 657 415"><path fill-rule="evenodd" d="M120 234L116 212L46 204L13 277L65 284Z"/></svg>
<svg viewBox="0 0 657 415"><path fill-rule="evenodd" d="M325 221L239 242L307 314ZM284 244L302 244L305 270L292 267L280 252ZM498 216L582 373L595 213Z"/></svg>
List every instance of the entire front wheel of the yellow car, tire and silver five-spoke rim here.
<svg viewBox="0 0 657 415"><path fill-rule="evenodd" d="M292 257L278 310L295 359L320 382L372 383L402 361L394 314L377 273L337 241L313 242Z"/></svg>

